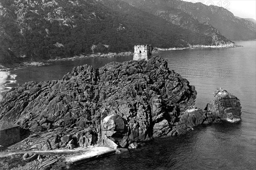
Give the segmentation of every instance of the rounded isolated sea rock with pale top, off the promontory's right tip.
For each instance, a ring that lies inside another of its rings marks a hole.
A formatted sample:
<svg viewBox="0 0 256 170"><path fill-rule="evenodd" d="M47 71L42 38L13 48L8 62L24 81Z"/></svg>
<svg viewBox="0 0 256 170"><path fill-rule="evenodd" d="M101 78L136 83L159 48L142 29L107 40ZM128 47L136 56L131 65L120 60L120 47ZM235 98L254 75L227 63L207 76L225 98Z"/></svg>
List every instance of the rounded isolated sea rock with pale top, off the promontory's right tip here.
<svg viewBox="0 0 256 170"><path fill-rule="evenodd" d="M220 88L214 92L214 96L215 98L207 104L207 112L227 122L241 121L241 104L235 95Z"/></svg>

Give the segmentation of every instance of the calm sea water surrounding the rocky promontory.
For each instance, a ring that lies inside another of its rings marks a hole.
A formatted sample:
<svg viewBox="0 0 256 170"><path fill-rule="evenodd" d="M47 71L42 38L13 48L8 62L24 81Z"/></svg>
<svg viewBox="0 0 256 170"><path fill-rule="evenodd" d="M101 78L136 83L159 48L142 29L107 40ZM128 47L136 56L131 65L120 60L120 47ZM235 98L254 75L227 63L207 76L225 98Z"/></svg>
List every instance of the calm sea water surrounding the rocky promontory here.
<svg viewBox="0 0 256 170"><path fill-rule="evenodd" d="M76 170L244 170L256 169L256 43L244 47L162 51L169 68L188 79L198 92L196 105L204 109L216 88L235 94L241 101L242 121L202 125L177 137L154 139L144 147L102 158ZM76 65L99 68L108 62L132 57L94 58L55 62L10 72L6 88L28 81L61 79ZM17 75L17 77L15 77ZM3 93L2 93L3 94Z"/></svg>

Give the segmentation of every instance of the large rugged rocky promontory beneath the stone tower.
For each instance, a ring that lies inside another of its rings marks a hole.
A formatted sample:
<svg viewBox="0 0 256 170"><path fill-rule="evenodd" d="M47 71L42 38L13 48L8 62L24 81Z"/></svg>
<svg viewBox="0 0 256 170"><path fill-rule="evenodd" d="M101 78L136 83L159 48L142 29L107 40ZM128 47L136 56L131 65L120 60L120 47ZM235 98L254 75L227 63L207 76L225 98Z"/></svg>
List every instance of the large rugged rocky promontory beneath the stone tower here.
<svg viewBox="0 0 256 170"><path fill-rule="evenodd" d="M3 97L0 120L30 134L17 146L25 150L95 144L133 148L138 141L176 136L221 119L212 111L214 104L207 111L193 108L195 98L188 80L170 70L167 60L152 57L99 69L77 66L60 80L24 83Z"/></svg>

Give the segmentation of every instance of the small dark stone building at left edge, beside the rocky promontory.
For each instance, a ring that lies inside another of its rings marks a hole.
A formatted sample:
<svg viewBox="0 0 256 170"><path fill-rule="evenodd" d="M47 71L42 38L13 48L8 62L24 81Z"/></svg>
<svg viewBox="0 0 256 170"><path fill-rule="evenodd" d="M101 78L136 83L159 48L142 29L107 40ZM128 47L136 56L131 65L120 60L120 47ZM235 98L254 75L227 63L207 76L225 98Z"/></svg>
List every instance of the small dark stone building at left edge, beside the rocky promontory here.
<svg viewBox="0 0 256 170"><path fill-rule="evenodd" d="M9 146L20 141L20 126L12 122L0 122L0 145Z"/></svg>

